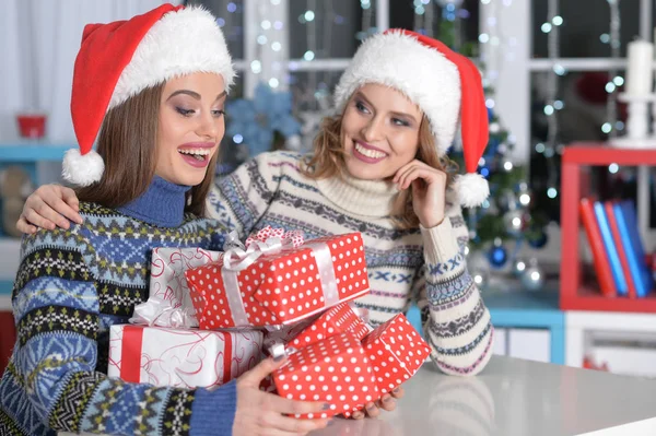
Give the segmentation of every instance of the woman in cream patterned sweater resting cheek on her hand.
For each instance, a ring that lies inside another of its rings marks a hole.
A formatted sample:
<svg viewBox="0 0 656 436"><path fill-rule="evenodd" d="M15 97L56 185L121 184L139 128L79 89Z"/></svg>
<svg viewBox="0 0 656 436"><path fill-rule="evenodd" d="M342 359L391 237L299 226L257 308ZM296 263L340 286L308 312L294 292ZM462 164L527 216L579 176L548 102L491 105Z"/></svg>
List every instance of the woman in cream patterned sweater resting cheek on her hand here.
<svg viewBox="0 0 656 436"><path fill-rule="evenodd" d="M335 96L337 115L323 123L309 158L255 157L218 180L208 214L244 237L267 225L302 229L308 238L362 232L372 292L356 303L370 309L372 322L415 302L436 366L479 373L492 354L493 328L466 269L460 210L489 193L475 174L488 142L477 68L435 39L394 30L362 44ZM446 151L459 119L469 174L454 179ZM67 188L42 187L20 228L67 226L52 208L75 220L75 201ZM366 412L394 409L391 397Z"/></svg>

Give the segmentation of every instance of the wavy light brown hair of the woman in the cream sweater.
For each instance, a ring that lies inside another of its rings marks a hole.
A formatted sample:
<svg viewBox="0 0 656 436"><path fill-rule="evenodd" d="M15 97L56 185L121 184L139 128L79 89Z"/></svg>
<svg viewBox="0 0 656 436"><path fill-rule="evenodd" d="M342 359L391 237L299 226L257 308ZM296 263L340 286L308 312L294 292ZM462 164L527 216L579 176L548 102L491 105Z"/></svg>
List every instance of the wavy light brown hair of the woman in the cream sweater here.
<svg viewBox="0 0 656 436"><path fill-rule="evenodd" d="M345 172L344 151L341 144L341 122L343 115L327 117L314 140L314 152L305 160L301 170L311 179L324 179L330 177L342 177ZM435 145L435 138L431 132L429 119L423 116L419 127L419 150L417 156L426 165L445 172L447 186L453 182L457 165L446 155L440 156ZM412 186L400 191L393 203L391 217L398 228L410 229L419 227L419 219L412 209Z"/></svg>

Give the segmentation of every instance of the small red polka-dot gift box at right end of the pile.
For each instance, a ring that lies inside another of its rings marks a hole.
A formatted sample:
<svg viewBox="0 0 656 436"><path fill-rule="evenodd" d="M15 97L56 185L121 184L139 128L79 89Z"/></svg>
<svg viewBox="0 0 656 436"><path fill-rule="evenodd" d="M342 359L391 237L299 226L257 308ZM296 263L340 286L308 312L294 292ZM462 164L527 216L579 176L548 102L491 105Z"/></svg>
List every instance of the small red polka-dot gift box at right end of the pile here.
<svg viewBox="0 0 656 436"><path fill-rule="evenodd" d="M410 379L431 349L402 314L376 327L363 341L380 394Z"/></svg>

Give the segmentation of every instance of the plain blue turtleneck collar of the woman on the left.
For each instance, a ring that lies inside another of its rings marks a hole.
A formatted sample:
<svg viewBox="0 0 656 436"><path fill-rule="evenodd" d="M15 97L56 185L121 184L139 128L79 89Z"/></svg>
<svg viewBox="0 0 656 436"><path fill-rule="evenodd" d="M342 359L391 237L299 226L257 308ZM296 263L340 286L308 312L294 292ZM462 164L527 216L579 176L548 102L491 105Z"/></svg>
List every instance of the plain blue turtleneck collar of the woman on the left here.
<svg viewBox="0 0 656 436"><path fill-rule="evenodd" d="M189 189L154 176L145 192L118 210L160 227L177 227L185 220L185 193Z"/></svg>

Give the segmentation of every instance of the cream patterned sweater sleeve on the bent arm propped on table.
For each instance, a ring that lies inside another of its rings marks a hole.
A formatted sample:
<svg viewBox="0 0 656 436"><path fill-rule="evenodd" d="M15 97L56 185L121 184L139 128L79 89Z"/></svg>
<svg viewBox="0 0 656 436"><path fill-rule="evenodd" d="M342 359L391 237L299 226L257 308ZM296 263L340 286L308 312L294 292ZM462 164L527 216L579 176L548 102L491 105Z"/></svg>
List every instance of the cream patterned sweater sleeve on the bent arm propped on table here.
<svg viewBox="0 0 656 436"><path fill-rule="evenodd" d="M479 288L467 271L468 229L460 207L449 204L445 220L421 228L423 274L414 295L422 311L432 361L446 374L475 375L492 354L493 327Z"/></svg>

